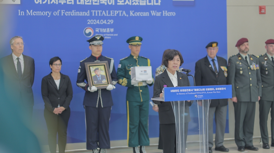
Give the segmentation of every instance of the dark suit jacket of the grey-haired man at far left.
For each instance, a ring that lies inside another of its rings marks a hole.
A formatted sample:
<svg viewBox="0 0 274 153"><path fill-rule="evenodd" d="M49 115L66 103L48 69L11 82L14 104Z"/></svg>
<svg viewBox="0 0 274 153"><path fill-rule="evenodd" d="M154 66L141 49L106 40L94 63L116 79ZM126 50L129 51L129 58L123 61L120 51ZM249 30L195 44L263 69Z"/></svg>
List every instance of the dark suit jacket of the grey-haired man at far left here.
<svg viewBox="0 0 274 153"><path fill-rule="evenodd" d="M9 99L12 102L30 107L34 105L32 85L34 82L35 65L33 58L26 55L23 55L23 58L24 71L21 79L19 79L16 71L12 54L1 58L0 61L4 73L4 88Z"/></svg>

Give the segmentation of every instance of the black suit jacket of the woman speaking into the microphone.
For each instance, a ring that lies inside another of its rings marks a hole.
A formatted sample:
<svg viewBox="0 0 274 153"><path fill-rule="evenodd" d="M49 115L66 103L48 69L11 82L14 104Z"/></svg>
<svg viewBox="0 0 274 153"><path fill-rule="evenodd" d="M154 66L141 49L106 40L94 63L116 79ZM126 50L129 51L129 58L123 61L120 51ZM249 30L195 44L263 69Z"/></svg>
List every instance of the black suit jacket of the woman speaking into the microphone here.
<svg viewBox="0 0 274 153"><path fill-rule="evenodd" d="M164 85L166 85L167 87L174 87L166 71L167 70L165 70L163 73L155 77L155 82L153 86L153 98L160 97L160 94L162 93L162 89L164 88ZM177 78L178 78L178 86L190 86L190 83L186 74L180 73L178 71L176 72L177 72ZM161 102L156 100L153 100L153 102L154 104L159 105L158 112L159 112L160 124L175 123L175 117L174 117L174 112L173 112L171 102ZM189 114L189 106L191 106L192 102L186 102L185 113ZM187 122L190 122L189 115L185 116L185 123Z"/></svg>

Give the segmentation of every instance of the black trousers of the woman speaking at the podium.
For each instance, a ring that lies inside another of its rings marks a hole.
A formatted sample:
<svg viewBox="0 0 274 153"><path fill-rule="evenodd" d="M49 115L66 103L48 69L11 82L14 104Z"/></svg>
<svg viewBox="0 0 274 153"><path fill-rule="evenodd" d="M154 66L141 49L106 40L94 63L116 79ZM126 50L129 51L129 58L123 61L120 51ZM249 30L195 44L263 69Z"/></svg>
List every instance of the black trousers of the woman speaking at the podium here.
<svg viewBox="0 0 274 153"><path fill-rule="evenodd" d="M188 136L188 122L184 125L185 147L186 139ZM173 124L160 124L161 136L163 140L163 152L164 153L176 153L176 125Z"/></svg>

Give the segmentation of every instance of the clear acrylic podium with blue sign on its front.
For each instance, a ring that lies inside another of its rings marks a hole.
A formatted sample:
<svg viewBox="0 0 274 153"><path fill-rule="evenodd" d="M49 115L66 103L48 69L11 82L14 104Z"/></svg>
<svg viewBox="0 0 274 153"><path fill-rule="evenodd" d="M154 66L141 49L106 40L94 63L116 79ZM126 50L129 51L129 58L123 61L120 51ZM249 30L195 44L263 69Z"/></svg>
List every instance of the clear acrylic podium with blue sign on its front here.
<svg viewBox="0 0 274 153"><path fill-rule="evenodd" d="M186 151L186 139L191 135L199 137L200 149L196 152L208 153L210 101L224 98L232 98L231 85L166 87L162 98L151 98L151 100L172 104L176 124L177 153L188 152ZM191 121L190 118L192 118Z"/></svg>

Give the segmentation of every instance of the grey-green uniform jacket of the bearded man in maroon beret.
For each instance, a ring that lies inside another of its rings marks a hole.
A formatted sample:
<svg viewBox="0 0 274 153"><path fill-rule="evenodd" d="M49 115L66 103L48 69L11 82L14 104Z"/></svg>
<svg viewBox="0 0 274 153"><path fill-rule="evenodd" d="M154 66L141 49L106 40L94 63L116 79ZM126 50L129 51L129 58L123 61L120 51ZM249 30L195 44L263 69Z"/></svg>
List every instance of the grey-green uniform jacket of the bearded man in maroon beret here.
<svg viewBox="0 0 274 153"><path fill-rule="evenodd" d="M228 59L227 80L232 85L232 97L237 97L238 102L257 102L262 96L261 73L251 70L252 64L258 64L256 56L248 54L249 65L240 53Z"/></svg>

